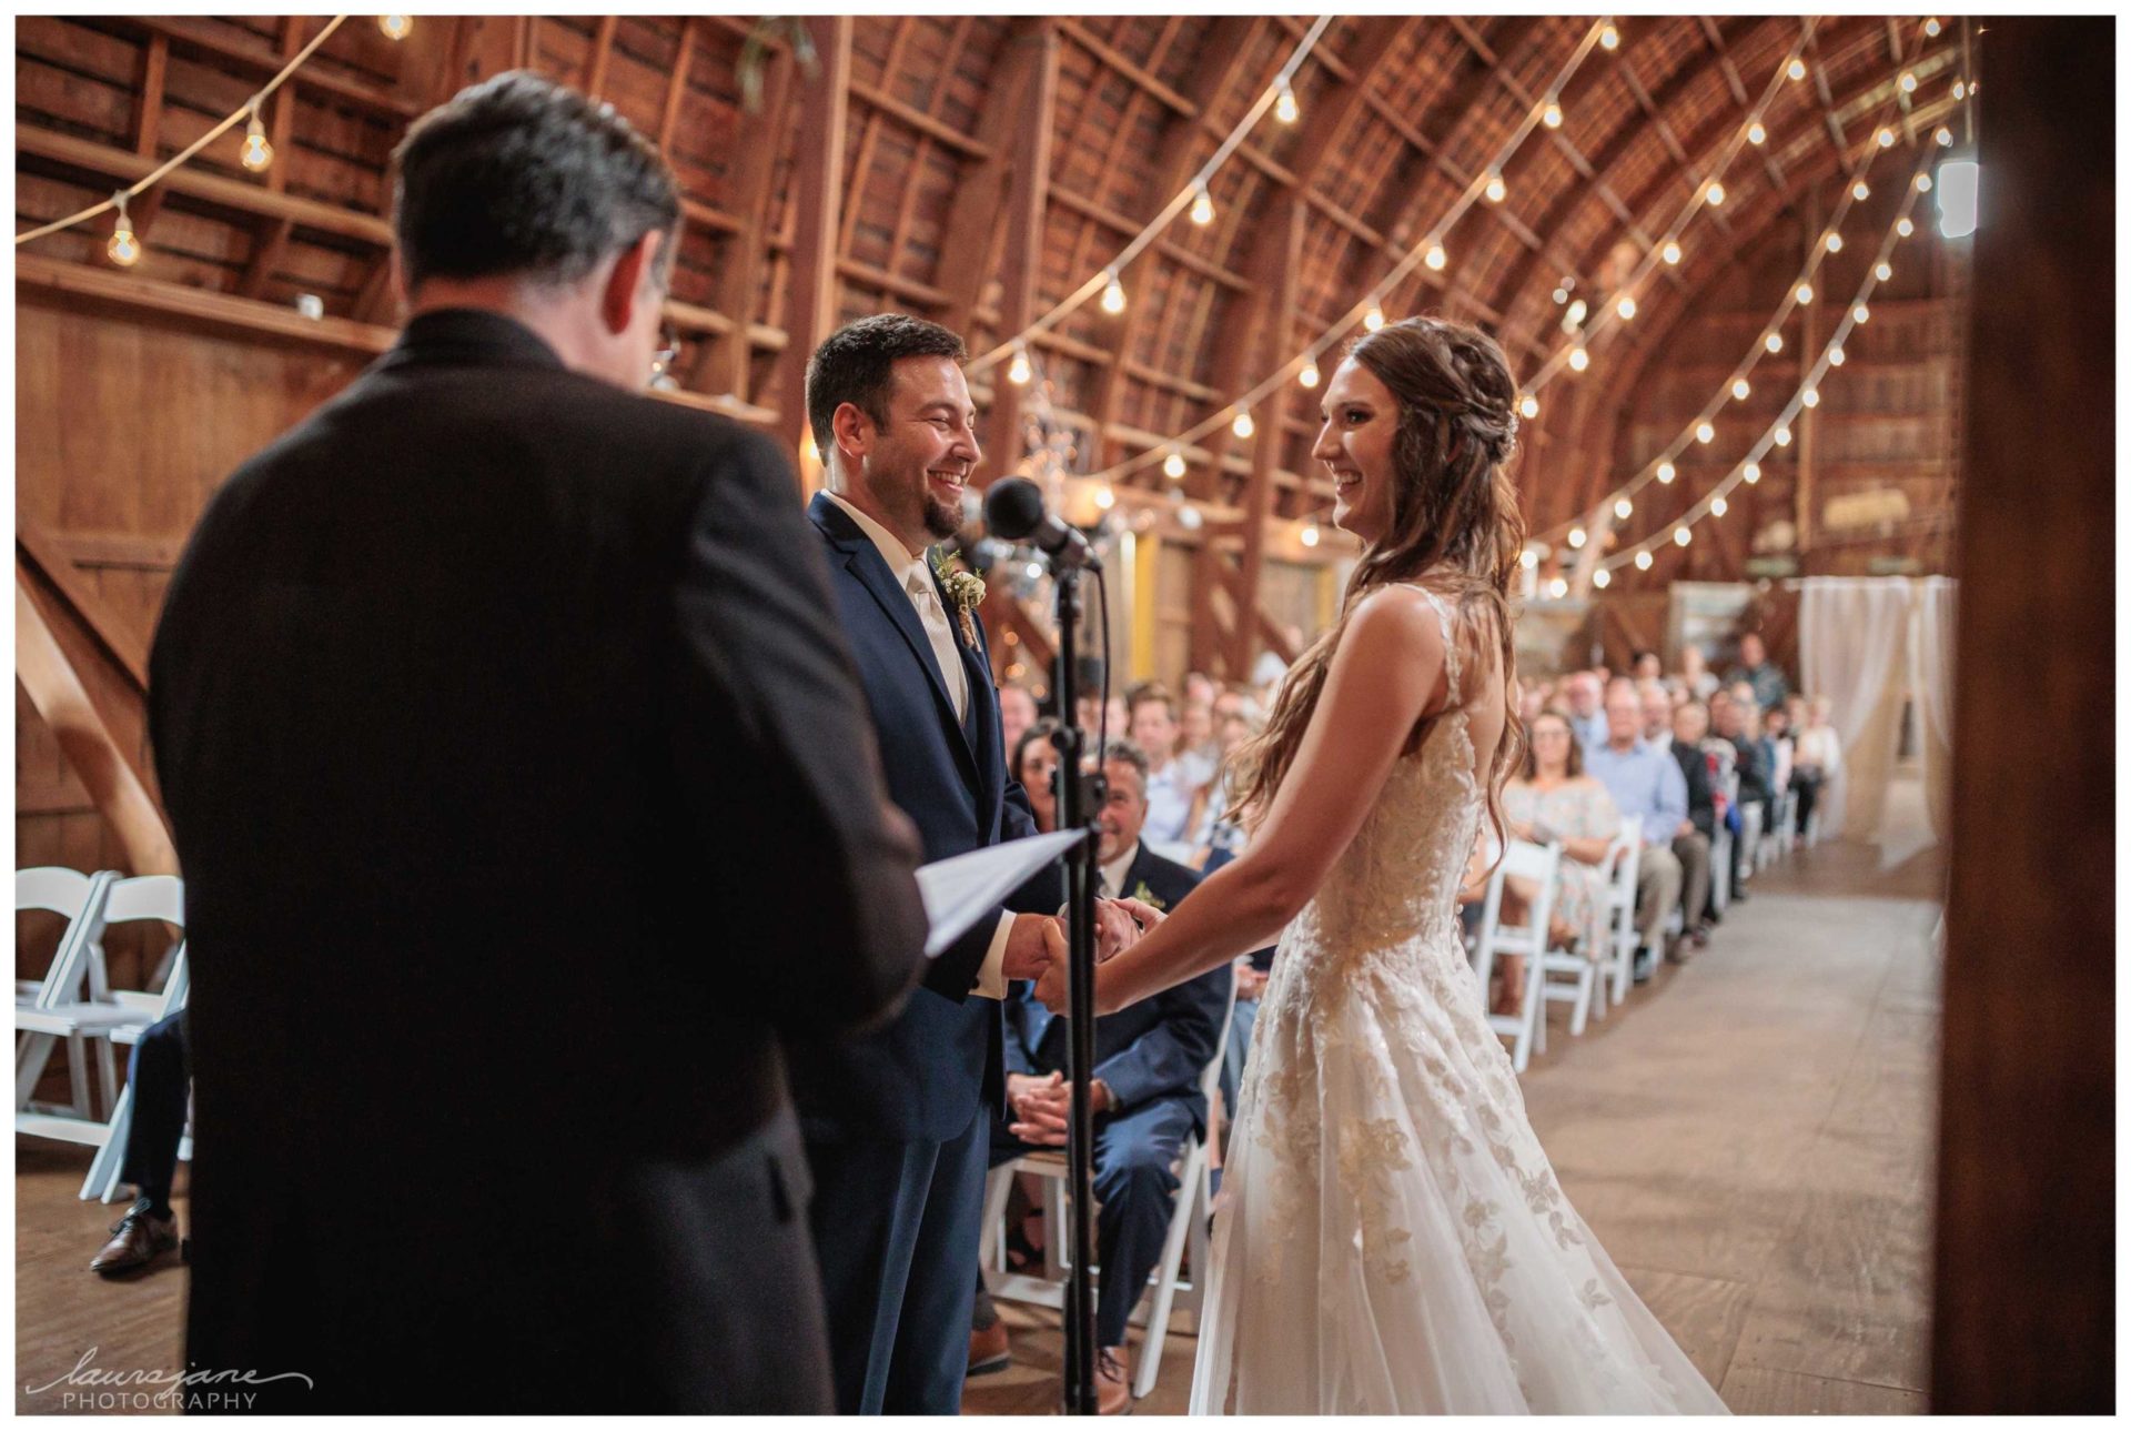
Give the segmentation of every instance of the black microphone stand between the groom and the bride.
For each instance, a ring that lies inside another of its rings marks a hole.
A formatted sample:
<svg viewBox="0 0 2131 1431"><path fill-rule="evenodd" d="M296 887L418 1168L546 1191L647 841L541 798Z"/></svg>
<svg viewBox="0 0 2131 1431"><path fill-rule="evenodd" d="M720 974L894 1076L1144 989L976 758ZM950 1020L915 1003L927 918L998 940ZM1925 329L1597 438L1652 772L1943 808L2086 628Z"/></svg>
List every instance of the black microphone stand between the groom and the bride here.
<svg viewBox="0 0 2131 1431"><path fill-rule="evenodd" d="M1066 859L1068 932L1068 1030L1072 1075L1072 1118L1068 1120L1066 1169L1072 1184L1072 1269L1066 1280L1066 1414L1095 1414L1095 1265L1093 1179L1093 1077L1095 1077L1095 830L1102 808L1102 776L1085 776L1087 734L1080 729L1076 633L1080 629L1080 565L1053 561L1059 650L1053 689L1059 693L1059 729L1051 742L1059 751L1059 830L1083 830Z"/></svg>

